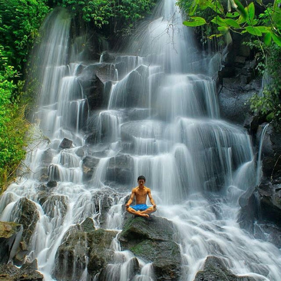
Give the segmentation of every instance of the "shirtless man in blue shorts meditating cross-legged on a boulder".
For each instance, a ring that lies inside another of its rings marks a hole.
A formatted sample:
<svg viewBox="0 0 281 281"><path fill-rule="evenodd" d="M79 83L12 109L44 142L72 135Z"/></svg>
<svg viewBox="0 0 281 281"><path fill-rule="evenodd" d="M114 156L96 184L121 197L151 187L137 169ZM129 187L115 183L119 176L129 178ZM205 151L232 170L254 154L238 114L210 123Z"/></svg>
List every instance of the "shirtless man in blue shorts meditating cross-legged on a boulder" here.
<svg viewBox="0 0 281 281"><path fill-rule="evenodd" d="M152 199L150 189L144 186L144 183L145 183L145 177L139 176L138 177L139 186L132 189L131 197L128 203L126 204L126 211L133 215L149 218L148 214L154 213L156 211L156 204ZM152 204L152 206L150 207L146 205L147 195L150 200L150 203ZM133 203L133 199L135 196L136 196L136 205L130 206Z"/></svg>

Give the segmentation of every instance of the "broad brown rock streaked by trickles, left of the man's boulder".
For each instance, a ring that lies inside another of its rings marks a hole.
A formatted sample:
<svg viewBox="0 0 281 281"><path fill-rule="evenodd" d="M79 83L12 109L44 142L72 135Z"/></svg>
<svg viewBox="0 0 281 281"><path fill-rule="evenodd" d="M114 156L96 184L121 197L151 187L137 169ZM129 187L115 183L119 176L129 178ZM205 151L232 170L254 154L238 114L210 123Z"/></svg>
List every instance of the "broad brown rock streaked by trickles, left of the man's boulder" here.
<svg viewBox="0 0 281 281"><path fill-rule="evenodd" d="M57 250L53 277L79 280L87 267L93 278L110 261L113 251L109 249L115 235L114 231L95 230L91 218L70 228Z"/></svg>

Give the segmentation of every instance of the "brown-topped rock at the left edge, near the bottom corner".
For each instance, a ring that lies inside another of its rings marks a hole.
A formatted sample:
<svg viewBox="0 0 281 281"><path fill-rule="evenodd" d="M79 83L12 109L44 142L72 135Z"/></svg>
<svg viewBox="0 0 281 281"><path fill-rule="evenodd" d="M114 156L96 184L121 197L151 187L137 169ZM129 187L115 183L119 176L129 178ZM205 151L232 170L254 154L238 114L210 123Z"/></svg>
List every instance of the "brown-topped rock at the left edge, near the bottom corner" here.
<svg viewBox="0 0 281 281"><path fill-rule="evenodd" d="M12 260L19 247L23 227L15 222L0 221L0 264Z"/></svg>

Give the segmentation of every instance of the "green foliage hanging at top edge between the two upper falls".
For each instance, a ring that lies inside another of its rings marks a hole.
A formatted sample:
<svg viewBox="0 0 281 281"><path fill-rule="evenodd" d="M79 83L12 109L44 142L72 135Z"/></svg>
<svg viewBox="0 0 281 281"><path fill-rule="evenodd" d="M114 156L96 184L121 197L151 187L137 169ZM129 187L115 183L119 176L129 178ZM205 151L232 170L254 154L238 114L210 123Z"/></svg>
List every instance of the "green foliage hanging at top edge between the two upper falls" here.
<svg viewBox="0 0 281 281"><path fill-rule="evenodd" d="M69 8L86 22L102 27L110 22L124 27L149 13L155 0L56 0L57 5Z"/></svg>

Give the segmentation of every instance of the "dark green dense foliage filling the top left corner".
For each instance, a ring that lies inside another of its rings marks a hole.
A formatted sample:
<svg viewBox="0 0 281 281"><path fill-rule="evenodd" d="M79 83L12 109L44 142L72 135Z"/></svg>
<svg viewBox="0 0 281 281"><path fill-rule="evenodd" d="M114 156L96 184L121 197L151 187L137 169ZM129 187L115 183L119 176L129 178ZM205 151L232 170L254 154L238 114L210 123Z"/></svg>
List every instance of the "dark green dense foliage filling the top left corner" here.
<svg viewBox="0 0 281 281"><path fill-rule="evenodd" d="M49 12L47 0L0 0L0 45L8 64L22 70L38 28Z"/></svg>

